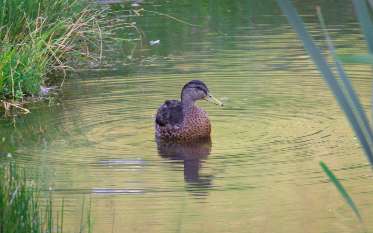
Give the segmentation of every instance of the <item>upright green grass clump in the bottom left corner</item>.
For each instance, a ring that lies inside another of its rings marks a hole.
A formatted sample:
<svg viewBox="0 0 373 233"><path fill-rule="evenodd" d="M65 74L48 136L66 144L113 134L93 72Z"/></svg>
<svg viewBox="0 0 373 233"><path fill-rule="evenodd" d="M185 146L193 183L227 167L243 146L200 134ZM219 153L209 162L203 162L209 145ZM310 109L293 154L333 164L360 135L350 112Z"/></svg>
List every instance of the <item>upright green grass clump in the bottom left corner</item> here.
<svg viewBox="0 0 373 233"><path fill-rule="evenodd" d="M9 154L10 157L10 154ZM47 182L41 182L45 189L38 187L39 181L35 182L26 179L26 172L12 161L1 161L0 164L0 232L62 232L63 226L63 203L61 218L59 211L53 210L54 186L48 188ZM40 198L45 190L46 199ZM43 208L44 205L44 208ZM84 210L84 198L82 213ZM91 221L91 199L87 211L87 221L79 232L82 232L85 225L88 232L92 232L93 221ZM55 215L57 217L55 218ZM83 218L83 215L82 215ZM56 220L57 222L55 222ZM59 223L59 220L61 221ZM54 228L53 228L54 227Z"/></svg>

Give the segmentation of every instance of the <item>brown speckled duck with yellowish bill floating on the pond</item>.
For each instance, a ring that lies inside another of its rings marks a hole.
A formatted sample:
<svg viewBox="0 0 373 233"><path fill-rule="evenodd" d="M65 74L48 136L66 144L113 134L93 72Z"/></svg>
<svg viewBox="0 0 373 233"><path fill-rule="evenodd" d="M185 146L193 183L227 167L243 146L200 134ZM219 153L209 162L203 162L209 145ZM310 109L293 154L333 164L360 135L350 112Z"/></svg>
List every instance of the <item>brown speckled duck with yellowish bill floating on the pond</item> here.
<svg viewBox="0 0 373 233"><path fill-rule="evenodd" d="M184 85L180 100L166 100L158 108L154 127L156 136L162 139L192 141L209 138L211 123L205 110L195 105L196 100L207 100L223 106L214 98L206 84L192 80Z"/></svg>

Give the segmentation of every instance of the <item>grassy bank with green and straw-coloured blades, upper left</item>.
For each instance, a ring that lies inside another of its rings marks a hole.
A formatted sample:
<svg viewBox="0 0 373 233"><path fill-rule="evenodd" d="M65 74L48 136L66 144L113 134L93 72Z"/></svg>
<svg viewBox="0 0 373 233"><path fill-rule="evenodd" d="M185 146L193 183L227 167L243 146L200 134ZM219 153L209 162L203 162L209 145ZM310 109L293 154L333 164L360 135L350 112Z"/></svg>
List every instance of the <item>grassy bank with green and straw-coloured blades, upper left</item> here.
<svg viewBox="0 0 373 233"><path fill-rule="evenodd" d="M34 95L46 75L73 70L74 62L101 62L113 31L133 26L110 25L115 18L90 2L0 1L0 99Z"/></svg>

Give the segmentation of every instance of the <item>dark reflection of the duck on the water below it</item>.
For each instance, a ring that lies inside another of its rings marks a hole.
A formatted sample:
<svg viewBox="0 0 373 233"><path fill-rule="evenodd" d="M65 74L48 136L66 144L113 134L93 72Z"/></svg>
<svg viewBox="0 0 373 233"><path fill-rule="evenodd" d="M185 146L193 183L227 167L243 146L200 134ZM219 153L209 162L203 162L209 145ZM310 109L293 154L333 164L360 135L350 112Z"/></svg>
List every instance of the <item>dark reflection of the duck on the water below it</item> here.
<svg viewBox="0 0 373 233"><path fill-rule="evenodd" d="M204 158L211 153L211 138L198 141L171 141L156 136L158 153L162 158L178 160L177 164L184 164L184 179L188 182L187 188L195 195L207 195L211 188L210 175L200 175Z"/></svg>

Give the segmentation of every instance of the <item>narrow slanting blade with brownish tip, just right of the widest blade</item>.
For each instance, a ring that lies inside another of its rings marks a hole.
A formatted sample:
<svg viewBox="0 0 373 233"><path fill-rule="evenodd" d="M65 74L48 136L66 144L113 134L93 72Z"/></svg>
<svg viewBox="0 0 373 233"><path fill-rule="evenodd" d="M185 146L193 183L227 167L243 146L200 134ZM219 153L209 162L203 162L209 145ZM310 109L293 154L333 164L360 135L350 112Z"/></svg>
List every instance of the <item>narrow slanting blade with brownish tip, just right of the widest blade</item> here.
<svg viewBox="0 0 373 233"><path fill-rule="evenodd" d="M327 29L326 29L326 26L325 26L325 21L324 21L323 15L321 13L320 7L317 7L317 16L319 17L320 25L323 29L323 32L324 32L324 35L325 35L330 53L332 54L333 57L335 57L336 56L335 48L332 44L332 40L329 36L329 33L327 32ZM355 92L354 88L352 87L350 79L347 77L347 74L346 74L345 70L343 69L342 64L338 60L335 59L334 64L335 64L335 67L338 71L339 77L342 80L342 84L343 84L343 86L344 86L344 88L345 88L345 90L348 94L348 97L352 101L352 104L354 105L354 108L357 111L357 117L359 117L360 118L359 120L361 120L361 122L363 122L363 125L364 125L363 129L365 130L366 134L369 135L369 139L370 139L369 143L370 143L370 145L372 145L373 144L372 129L369 125L369 122L368 122L366 114L363 110L363 107L361 106L361 103L360 103L360 101L359 101L359 99L356 95L356 92Z"/></svg>

